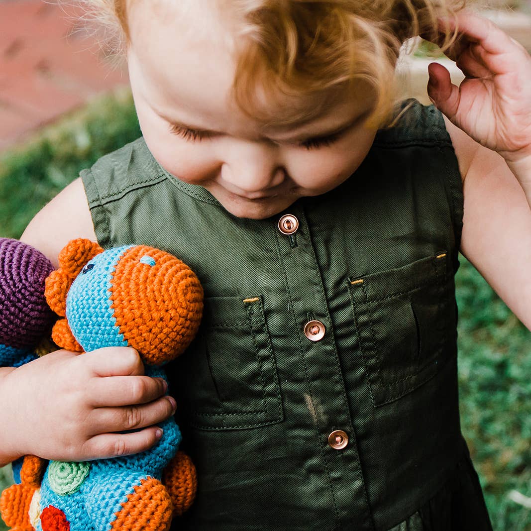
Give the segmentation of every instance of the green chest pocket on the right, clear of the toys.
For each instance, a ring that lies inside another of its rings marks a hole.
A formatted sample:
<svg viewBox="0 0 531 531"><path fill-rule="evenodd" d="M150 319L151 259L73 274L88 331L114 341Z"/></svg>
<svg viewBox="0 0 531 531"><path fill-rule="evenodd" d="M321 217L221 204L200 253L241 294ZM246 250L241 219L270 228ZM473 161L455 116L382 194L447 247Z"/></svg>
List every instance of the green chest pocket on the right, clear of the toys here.
<svg viewBox="0 0 531 531"><path fill-rule="evenodd" d="M349 279L374 405L421 386L456 352L456 305L446 252Z"/></svg>

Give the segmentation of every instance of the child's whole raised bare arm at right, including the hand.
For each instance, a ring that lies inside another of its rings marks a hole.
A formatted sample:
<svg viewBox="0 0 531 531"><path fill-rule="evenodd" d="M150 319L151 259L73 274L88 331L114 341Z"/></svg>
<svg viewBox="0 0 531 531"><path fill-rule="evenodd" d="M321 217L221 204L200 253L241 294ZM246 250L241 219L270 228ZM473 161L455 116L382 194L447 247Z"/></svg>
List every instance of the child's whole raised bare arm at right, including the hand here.
<svg viewBox="0 0 531 531"><path fill-rule="evenodd" d="M531 56L488 20L458 24L452 58L466 79L457 88L431 65L428 91L464 178L461 251L531 329Z"/></svg>

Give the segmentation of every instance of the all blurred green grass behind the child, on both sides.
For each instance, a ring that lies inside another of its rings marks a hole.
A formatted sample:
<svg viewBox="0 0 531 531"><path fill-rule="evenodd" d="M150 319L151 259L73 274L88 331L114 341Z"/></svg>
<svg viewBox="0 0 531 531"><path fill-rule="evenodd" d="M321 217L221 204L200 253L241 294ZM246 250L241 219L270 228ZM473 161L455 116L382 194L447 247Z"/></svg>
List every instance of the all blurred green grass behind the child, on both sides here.
<svg viewBox="0 0 531 531"><path fill-rule="evenodd" d="M80 169L139 134L131 97L120 92L0 157L0 236L20 236ZM531 510L508 497L531 496L531 332L464 258L456 284L463 432L495 531L531 531ZM10 481L0 469L0 489Z"/></svg>

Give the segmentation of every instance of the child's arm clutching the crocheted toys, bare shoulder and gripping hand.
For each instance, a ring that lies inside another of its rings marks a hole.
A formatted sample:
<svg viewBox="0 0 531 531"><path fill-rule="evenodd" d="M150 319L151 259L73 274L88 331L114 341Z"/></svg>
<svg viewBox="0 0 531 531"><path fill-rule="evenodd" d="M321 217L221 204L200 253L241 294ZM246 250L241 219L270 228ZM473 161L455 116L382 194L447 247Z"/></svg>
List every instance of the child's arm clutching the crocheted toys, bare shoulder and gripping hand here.
<svg viewBox="0 0 531 531"><path fill-rule="evenodd" d="M75 237L95 240L80 181L42 209L21 239L57 264ZM0 369L0 465L25 454L55 460L115 457L148 449L175 402L162 379L144 376L135 350L58 350ZM171 399L173 400L173 399ZM142 429L143 428L143 429ZM141 429L138 432L114 432Z"/></svg>

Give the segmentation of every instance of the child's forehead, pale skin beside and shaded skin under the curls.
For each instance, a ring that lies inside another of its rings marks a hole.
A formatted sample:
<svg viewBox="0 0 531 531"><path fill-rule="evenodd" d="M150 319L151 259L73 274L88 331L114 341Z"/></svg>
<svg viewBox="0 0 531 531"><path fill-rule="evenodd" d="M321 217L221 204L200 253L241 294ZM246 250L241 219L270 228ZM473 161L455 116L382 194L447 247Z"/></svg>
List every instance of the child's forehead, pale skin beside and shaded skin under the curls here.
<svg viewBox="0 0 531 531"><path fill-rule="evenodd" d="M228 116L233 122L243 116L233 93L235 36L241 21L230 10L230 2L151 2L135 0L129 15L130 67L140 74L137 88L165 116L172 116L170 109L175 108L181 121L198 124L200 116L205 129L226 129ZM358 84L355 91L340 87L304 96L279 93L272 101L262 96L257 83L253 99L261 117L255 122L263 131L302 125L331 109L359 114L372 104L369 92Z"/></svg>

